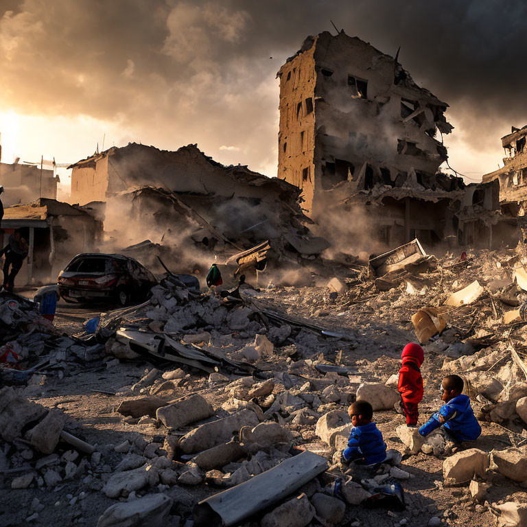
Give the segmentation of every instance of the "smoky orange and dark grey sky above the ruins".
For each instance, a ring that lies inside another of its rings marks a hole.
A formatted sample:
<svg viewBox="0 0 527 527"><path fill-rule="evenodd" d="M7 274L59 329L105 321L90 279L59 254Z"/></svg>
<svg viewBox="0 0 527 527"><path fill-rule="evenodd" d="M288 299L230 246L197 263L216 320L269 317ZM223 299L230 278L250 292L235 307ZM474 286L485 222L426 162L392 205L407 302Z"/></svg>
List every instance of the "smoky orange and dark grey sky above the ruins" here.
<svg viewBox="0 0 527 527"><path fill-rule="evenodd" d="M276 175L275 74L305 36L351 36L448 102L450 164L480 179L527 124L521 0L0 0L2 161L128 141ZM502 163L500 163L502 165Z"/></svg>

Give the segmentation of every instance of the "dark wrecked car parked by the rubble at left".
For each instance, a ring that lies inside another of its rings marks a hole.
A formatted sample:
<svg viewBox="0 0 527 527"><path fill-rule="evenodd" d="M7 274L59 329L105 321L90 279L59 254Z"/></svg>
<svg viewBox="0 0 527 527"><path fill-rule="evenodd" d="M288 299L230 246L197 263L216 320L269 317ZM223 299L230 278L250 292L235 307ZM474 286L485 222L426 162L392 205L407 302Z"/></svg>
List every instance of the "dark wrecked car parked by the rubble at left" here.
<svg viewBox="0 0 527 527"><path fill-rule="evenodd" d="M145 301L158 282L128 256L84 253L60 271L57 283L66 302L110 301L125 306Z"/></svg>

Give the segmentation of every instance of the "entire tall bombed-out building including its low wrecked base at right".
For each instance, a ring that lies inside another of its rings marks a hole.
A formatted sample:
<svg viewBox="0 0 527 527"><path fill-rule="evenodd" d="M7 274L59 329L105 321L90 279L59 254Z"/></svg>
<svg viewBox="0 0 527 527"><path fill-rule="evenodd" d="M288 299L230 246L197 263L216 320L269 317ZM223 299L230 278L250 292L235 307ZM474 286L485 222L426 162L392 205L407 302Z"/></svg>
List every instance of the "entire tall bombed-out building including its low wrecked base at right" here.
<svg viewBox="0 0 527 527"><path fill-rule="evenodd" d="M447 160L443 134L453 128L448 104L417 86L397 57L323 32L307 37L277 76L278 177L302 190L323 235L366 232L391 246L414 237L485 246L502 239L509 226L495 187L466 187L438 172Z"/></svg>

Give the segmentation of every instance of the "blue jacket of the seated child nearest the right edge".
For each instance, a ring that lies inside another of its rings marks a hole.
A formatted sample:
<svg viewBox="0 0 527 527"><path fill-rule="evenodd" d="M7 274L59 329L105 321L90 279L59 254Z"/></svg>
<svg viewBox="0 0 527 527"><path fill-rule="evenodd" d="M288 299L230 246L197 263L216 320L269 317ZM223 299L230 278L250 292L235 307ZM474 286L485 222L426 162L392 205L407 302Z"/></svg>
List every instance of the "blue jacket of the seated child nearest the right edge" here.
<svg viewBox="0 0 527 527"><path fill-rule="evenodd" d="M441 406L440 410L430 417L428 423L419 428L421 436L444 426L456 436L459 441L473 441L481 435L480 423L474 416L467 395L458 395Z"/></svg>

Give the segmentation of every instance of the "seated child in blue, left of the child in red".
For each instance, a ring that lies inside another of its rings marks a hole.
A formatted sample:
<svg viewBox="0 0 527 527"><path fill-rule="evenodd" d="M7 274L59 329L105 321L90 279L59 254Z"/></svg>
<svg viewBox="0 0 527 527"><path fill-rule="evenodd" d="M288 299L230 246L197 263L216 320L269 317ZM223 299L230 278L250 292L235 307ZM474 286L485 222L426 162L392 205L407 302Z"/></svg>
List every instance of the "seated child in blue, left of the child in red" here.
<svg viewBox="0 0 527 527"><path fill-rule="evenodd" d="M386 443L382 433L372 423L373 408L368 401L355 401L348 408L351 424L348 447L342 452L342 462L359 461L364 465L375 465L386 459Z"/></svg>

